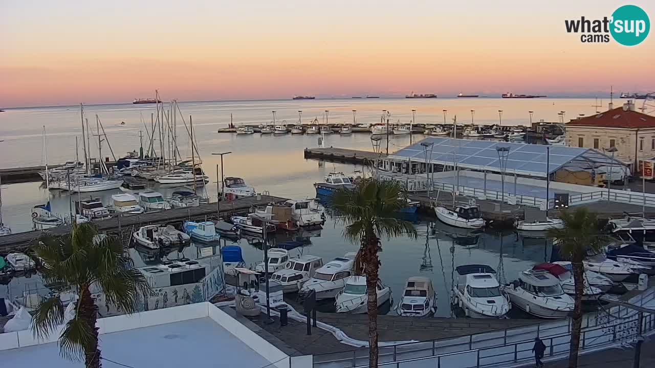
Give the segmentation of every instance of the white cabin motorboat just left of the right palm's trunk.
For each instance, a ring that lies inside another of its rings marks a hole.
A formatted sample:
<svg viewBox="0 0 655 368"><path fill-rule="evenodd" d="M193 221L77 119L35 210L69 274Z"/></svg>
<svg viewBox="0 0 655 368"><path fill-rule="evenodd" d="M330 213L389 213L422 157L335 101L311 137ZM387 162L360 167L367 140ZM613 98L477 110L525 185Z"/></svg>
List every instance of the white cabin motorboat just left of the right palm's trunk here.
<svg viewBox="0 0 655 368"><path fill-rule="evenodd" d="M519 280L502 285L517 308L540 318L565 318L572 312L574 300L564 293L559 279L546 270L527 270Z"/></svg>

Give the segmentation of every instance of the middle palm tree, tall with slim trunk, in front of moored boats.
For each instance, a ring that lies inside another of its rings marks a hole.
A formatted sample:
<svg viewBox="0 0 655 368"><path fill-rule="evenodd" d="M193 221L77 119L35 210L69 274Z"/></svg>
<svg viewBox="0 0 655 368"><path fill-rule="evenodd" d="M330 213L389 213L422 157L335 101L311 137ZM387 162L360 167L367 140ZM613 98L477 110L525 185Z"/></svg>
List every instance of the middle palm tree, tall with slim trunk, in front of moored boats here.
<svg viewBox="0 0 655 368"><path fill-rule="evenodd" d="M394 217L407 201L397 181L365 179L350 189L341 189L332 197L332 206L339 221L346 227L346 240L360 244L355 272L366 275L369 316L369 367L377 367L377 280L381 237L390 239L407 234L417 238L413 223Z"/></svg>

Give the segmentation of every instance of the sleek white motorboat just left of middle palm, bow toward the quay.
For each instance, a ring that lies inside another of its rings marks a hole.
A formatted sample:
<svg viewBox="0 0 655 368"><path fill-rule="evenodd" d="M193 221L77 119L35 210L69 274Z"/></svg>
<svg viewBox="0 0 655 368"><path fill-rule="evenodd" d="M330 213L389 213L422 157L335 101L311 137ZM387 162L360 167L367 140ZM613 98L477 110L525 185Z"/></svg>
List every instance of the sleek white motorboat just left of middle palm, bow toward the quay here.
<svg viewBox="0 0 655 368"><path fill-rule="evenodd" d="M335 299L350 277L356 255L357 253L346 253L343 257L337 257L318 268L314 276L301 287L300 293L306 295L310 290L314 290L316 300Z"/></svg>

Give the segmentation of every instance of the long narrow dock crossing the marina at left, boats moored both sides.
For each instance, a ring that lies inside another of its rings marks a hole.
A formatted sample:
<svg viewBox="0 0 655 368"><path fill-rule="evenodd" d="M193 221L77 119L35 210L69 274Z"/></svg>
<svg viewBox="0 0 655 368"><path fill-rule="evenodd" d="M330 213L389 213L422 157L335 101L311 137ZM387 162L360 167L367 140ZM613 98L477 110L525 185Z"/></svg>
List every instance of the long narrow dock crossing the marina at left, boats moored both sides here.
<svg viewBox="0 0 655 368"><path fill-rule="evenodd" d="M253 206L264 206L271 202L284 202L287 198L277 196L252 196L248 198L239 198L233 201L221 202L221 217L229 217L234 214L242 214L250 212ZM216 216L216 203L201 204L198 207L191 208L176 208L174 210L138 213L138 214L121 214L120 216L113 216L111 219L99 220L94 223L101 232L111 230L125 230L129 228L141 227L149 224L176 224L185 220L204 220L215 219ZM71 225L63 225L48 229L52 234L67 234L71 231ZM41 236L41 230L33 230L28 232L16 232L0 236L0 253L7 253L12 250L23 250L31 246L31 244Z"/></svg>

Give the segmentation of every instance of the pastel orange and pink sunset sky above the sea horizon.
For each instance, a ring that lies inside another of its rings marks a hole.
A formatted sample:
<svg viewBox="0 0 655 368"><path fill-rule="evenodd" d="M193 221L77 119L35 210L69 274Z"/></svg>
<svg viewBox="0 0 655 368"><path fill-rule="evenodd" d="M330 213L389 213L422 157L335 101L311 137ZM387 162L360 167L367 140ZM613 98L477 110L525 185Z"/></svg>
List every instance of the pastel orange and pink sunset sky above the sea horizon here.
<svg viewBox="0 0 655 368"><path fill-rule="evenodd" d="M655 18L655 3L631 1ZM0 0L0 107L655 90L655 35L581 43L622 1ZM651 33L655 33L652 31Z"/></svg>

